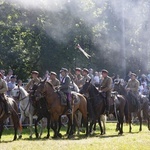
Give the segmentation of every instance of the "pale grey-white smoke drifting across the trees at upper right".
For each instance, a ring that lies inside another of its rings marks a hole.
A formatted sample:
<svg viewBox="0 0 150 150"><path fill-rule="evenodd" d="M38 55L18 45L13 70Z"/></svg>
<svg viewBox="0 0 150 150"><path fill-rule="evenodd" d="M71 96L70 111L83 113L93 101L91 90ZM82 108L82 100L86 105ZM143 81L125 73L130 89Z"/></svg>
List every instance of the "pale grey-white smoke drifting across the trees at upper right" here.
<svg viewBox="0 0 150 150"><path fill-rule="evenodd" d="M93 43L106 51L122 53L121 57L136 57L144 65L150 55L150 2L149 0L7 0L9 3L19 4L18 9L43 10L49 16L44 20L44 28L49 36L56 41L63 42L71 30L73 21L80 18L87 27L94 31ZM73 18L67 20L61 12L70 13ZM58 14L58 18L51 18L51 13ZM53 22L51 28L50 20ZM67 26L62 21L68 21ZM114 21L115 20L115 21ZM107 30L109 24L109 30ZM105 37L105 38L104 38ZM136 49L135 51L132 51ZM107 57L107 56L106 56ZM108 56L109 57L109 56ZM125 63L125 62L124 62ZM149 67L147 67L149 69Z"/></svg>

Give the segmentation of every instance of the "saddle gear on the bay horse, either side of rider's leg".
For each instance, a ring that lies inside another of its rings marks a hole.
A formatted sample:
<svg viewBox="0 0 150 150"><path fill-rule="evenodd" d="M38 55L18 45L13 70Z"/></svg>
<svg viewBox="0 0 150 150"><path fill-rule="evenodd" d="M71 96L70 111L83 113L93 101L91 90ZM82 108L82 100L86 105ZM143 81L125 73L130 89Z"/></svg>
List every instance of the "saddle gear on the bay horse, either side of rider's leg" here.
<svg viewBox="0 0 150 150"><path fill-rule="evenodd" d="M60 102L61 102L61 105L63 106L67 106L67 96L64 92L62 91L57 91L59 97L60 97ZM77 95L76 92L71 92L71 101L73 101L74 104L78 104L80 102L80 98L79 96Z"/></svg>

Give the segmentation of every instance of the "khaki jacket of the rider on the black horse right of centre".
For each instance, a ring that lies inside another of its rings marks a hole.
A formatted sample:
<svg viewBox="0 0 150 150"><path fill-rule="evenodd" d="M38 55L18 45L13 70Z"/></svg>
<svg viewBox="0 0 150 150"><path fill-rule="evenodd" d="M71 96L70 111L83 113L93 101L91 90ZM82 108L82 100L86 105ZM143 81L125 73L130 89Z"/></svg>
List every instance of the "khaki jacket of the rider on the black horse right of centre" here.
<svg viewBox="0 0 150 150"><path fill-rule="evenodd" d="M107 76L103 79L100 86L100 90L102 92L111 93L111 89L112 89L112 78Z"/></svg>

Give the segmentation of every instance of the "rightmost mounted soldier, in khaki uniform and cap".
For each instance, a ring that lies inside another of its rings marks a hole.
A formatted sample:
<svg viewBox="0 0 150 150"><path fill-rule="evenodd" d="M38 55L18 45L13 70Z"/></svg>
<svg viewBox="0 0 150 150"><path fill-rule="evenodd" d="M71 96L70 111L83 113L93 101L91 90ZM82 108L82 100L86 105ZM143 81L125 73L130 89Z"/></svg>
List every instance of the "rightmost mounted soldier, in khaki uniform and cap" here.
<svg viewBox="0 0 150 150"><path fill-rule="evenodd" d="M139 81L136 79L136 74L131 73L131 79L129 79L127 85L126 85L126 90L127 92L130 92L132 97L137 101L138 100L138 95L139 95Z"/></svg>

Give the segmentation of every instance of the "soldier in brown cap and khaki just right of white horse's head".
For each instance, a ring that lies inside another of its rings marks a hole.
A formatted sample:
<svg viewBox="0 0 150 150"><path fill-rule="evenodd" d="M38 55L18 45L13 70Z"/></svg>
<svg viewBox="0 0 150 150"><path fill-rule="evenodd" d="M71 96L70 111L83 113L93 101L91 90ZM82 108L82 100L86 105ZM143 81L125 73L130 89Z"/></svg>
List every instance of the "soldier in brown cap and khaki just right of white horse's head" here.
<svg viewBox="0 0 150 150"><path fill-rule="evenodd" d="M38 78L39 72L38 71L32 71L31 76L32 79L29 81L29 83L26 85L25 89L26 91L30 92L34 84L38 84L40 82L40 79Z"/></svg>

